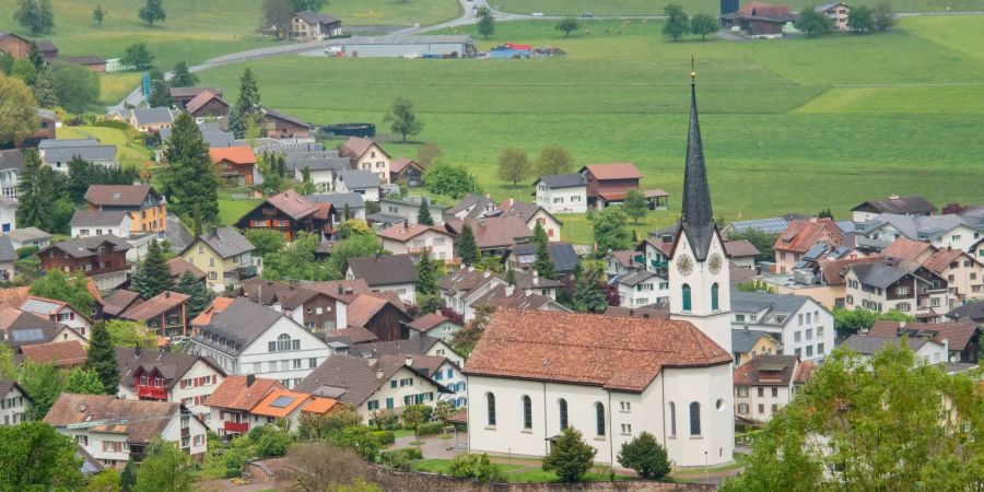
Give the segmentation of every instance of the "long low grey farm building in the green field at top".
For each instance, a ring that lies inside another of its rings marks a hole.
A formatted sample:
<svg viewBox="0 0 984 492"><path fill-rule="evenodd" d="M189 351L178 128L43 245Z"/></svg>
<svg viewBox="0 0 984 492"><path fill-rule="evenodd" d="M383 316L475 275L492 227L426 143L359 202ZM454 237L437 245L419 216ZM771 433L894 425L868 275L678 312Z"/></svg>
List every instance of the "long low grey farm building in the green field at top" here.
<svg viewBox="0 0 984 492"><path fill-rule="evenodd" d="M337 44L336 44L337 43ZM349 57L472 56L471 36L354 36L337 39L328 48L339 48Z"/></svg>

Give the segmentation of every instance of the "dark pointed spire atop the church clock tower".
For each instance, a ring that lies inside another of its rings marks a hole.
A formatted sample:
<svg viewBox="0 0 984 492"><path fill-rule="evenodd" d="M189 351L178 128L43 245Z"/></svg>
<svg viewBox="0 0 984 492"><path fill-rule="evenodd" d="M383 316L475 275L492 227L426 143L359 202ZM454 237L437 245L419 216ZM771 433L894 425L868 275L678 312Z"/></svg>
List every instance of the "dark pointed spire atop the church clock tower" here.
<svg viewBox="0 0 984 492"><path fill-rule="evenodd" d="M691 60L691 65L693 60ZM714 236L714 213L704 166L704 147L696 110L696 73L690 72L690 129L687 134L687 168L683 173L683 210L680 224L687 233L699 261L707 257Z"/></svg>

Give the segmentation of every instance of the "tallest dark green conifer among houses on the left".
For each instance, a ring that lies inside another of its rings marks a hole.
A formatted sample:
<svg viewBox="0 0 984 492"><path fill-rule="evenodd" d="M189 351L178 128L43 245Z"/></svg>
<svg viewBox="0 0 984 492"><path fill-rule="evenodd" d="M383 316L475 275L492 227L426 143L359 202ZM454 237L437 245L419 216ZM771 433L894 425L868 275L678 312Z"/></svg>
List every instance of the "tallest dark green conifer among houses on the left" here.
<svg viewBox="0 0 984 492"><path fill-rule="evenodd" d="M203 221L214 222L219 218L219 177L201 130L188 113L175 119L164 157L159 178L169 208L184 216L198 211Z"/></svg>

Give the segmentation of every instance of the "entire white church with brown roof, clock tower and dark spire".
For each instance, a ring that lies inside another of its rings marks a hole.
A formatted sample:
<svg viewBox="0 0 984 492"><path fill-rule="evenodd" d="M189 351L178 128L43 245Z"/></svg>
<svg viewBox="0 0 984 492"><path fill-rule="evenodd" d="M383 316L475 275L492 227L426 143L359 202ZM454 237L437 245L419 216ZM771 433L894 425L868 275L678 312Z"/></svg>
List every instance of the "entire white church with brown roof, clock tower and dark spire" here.
<svg viewBox="0 0 984 492"><path fill-rule="evenodd" d="M470 453L544 456L574 426L597 462L618 466L621 445L642 432L677 466L733 460L728 255L711 209L693 81L676 237L668 317L495 313L465 370Z"/></svg>

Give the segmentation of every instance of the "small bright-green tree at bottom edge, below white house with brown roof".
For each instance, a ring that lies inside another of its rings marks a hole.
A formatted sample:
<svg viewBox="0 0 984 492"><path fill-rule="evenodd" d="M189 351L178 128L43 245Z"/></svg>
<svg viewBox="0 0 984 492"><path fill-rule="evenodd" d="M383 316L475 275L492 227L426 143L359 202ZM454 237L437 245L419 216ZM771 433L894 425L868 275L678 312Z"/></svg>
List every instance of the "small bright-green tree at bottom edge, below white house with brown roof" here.
<svg viewBox="0 0 984 492"><path fill-rule="evenodd" d="M137 470L133 492L191 492L194 470L191 455L175 443L154 437Z"/></svg>

